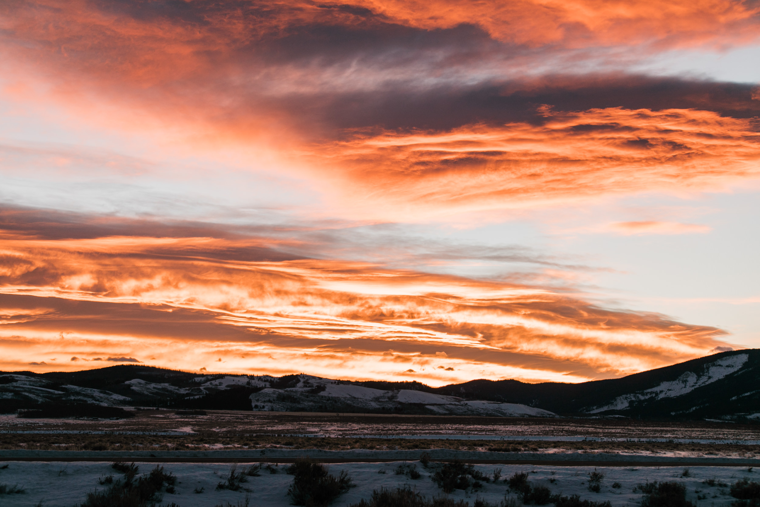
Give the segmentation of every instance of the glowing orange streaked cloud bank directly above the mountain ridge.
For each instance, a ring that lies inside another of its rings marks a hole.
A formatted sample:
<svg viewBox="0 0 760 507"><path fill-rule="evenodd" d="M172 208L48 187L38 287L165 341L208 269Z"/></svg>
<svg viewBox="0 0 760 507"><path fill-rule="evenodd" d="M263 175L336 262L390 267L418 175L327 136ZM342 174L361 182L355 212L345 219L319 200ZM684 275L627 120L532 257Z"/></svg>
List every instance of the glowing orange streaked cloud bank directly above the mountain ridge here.
<svg viewBox="0 0 760 507"><path fill-rule="evenodd" d="M198 244L202 257L192 255ZM438 384L579 382L726 345L716 328L547 287L337 260L247 261L229 250L208 238L6 239L4 367L60 357L74 368L76 356L200 369L222 358L226 369L290 372L308 359L310 372L340 378L414 369Z"/></svg>

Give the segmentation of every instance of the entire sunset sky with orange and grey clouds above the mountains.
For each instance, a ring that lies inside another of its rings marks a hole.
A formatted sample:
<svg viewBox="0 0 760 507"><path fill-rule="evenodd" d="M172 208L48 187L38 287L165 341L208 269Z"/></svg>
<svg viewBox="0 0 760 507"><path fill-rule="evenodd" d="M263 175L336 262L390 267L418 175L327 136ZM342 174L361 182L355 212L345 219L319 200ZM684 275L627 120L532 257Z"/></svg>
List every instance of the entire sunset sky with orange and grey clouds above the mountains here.
<svg viewBox="0 0 760 507"><path fill-rule="evenodd" d="M0 370L760 347L760 4L0 2Z"/></svg>

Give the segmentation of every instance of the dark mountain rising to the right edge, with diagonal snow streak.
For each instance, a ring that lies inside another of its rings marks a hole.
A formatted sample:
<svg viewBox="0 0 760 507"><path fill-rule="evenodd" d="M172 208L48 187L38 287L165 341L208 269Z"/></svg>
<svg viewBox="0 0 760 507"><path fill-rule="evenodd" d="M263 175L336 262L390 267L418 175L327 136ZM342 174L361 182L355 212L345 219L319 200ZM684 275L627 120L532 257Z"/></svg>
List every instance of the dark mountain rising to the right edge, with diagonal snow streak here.
<svg viewBox="0 0 760 507"><path fill-rule="evenodd" d="M760 350L734 350L581 384L473 380L434 392L541 407L556 414L725 417L760 412Z"/></svg>

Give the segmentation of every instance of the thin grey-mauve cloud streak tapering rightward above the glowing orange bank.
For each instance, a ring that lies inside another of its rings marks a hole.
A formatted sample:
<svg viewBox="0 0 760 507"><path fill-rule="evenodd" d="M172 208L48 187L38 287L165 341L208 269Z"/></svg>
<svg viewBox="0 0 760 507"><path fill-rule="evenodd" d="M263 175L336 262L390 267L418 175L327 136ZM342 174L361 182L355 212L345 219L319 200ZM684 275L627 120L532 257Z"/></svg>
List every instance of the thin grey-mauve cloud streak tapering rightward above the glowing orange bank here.
<svg viewBox="0 0 760 507"><path fill-rule="evenodd" d="M515 244L432 239L423 235L424 227L408 230L394 223L287 222L286 218L279 217L274 223L215 223L0 206L0 238L102 240L109 237L113 242L128 242L131 236L141 236L145 242L153 242L154 254L173 255L181 250L184 255L198 258L252 261L351 258L395 268L473 261L532 265L556 271L610 269L587 265L581 258L547 255Z"/></svg>

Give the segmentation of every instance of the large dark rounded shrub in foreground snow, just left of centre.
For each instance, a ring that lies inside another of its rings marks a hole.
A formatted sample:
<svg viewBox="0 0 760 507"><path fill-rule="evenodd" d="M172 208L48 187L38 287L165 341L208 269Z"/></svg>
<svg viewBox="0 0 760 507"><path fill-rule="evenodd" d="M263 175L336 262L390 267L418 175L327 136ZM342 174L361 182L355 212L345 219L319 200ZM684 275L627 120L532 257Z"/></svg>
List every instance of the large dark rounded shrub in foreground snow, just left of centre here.
<svg viewBox="0 0 760 507"><path fill-rule="evenodd" d="M287 490L293 505L321 507L353 487L351 477L340 471L338 477L328 473L324 464L311 460L296 460L287 467L287 473L293 475L293 483Z"/></svg>

